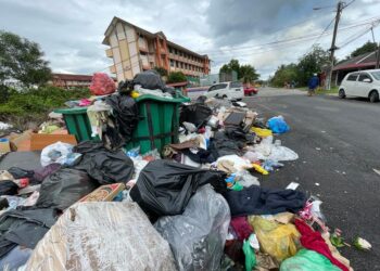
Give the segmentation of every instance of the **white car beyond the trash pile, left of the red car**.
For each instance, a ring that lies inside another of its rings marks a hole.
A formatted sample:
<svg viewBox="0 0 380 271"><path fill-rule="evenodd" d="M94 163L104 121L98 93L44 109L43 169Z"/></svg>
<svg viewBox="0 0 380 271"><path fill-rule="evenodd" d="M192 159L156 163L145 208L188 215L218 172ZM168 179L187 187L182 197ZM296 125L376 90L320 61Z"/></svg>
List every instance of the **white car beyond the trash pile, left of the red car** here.
<svg viewBox="0 0 380 271"><path fill-rule="evenodd" d="M239 81L220 82L211 86L204 95L207 98L215 96L229 100L239 100L244 98L244 88Z"/></svg>

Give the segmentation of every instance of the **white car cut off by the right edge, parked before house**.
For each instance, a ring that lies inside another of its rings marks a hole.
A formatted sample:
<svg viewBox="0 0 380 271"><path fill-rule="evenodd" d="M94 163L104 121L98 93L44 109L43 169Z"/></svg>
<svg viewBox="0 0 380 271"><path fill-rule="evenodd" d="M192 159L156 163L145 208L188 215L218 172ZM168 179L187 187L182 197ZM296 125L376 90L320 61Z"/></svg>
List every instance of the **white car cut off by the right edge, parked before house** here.
<svg viewBox="0 0 380 271"><path fill-rule="evenodd" d="M339 98L346 95L368 98L371 103L379 101L380 69L367 69L347 74L339 86Z"/></svg>

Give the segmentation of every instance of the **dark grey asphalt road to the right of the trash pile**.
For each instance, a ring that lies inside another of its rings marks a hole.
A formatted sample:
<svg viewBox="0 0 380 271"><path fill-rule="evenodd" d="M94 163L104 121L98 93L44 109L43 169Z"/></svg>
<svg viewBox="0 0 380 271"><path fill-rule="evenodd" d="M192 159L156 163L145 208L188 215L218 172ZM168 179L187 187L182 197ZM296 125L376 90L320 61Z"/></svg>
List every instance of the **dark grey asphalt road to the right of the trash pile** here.
<svg viewBox="0 0 380 271"><path fill-rule="evenodd" d="M355 236L372 250L340 251L355 270L380 270L380 103L319 95L286 89L261 89L244 99L261 116L282 115L291 131L277 137L300 158L267 177L263 186L300 190L317 195L330 229L339 228L347 243Z"/></svg>

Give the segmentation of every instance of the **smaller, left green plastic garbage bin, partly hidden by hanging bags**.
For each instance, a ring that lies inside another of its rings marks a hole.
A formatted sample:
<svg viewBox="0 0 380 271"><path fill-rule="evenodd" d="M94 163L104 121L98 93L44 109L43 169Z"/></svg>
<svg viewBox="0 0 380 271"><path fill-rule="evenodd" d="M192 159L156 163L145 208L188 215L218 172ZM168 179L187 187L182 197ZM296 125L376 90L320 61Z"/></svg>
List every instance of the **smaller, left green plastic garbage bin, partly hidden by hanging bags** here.
<svg viewBox="0 0 380 271"><path fill-rule="evenodd" d="M74 134L77 142L99 139L98 137L91 137L91 125L87 116L87 107L62 108L54 112L63 115L68 133Z"/></svg>

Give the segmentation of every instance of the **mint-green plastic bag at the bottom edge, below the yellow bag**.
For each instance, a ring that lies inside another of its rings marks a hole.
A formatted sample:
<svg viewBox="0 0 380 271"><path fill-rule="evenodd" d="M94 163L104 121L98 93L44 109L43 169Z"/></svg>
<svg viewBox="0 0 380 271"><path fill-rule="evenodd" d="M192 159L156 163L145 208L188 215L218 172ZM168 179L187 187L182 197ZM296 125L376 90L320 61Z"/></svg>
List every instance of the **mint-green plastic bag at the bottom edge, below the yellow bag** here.
<svg viewBox="0 0 380 271"><path fill-rule="evenodd" d="M340 271L341 269L331 263L324 255L314 250L301 249L295 256L286 259L280 271Z"/></svg>

